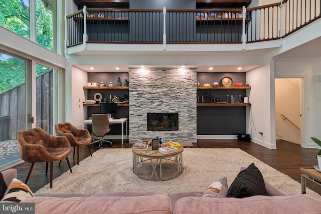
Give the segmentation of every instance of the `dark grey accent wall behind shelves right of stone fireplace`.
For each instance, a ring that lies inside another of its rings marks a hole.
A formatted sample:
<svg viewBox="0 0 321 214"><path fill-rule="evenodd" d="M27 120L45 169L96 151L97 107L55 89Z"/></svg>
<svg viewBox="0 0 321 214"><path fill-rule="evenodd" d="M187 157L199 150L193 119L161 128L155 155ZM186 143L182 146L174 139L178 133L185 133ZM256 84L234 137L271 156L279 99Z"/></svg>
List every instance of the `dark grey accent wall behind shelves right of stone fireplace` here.
<svg viewBox="0 0 321 214"><path fill-rule="evenodd" d="M230 77L235 83L244 83L246 73L197 73L197 80L201 86L209 83L213 86L218 82L222 86L221 79ZM198 89L197 94L202 96L208 93L226 102L226 95L246 96L244 89ZM213 103L213 101L211 101ZM236 135L238 132L246 132L246 106L198 106L197 107L197 134L198 135Z"/></svg>

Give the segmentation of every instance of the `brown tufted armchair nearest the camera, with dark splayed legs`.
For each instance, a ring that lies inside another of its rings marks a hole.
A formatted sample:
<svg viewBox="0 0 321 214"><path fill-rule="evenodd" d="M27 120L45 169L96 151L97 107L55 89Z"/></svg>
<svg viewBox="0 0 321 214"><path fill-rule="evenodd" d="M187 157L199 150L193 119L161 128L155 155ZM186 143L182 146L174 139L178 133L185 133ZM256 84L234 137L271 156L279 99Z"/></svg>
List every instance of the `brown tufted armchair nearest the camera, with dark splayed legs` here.
<svg viewBox="0 0 321 214"><path fill-rule="evenodd" d="M66 158L72 172L68 159L71 146L66 137L52 136L41 128L23 130L18 132L18 147L21 159L31 163L26 184L36 162L46 162L46 175L48 162L50 162L50 188L52 188L54 161Z"/></svg>

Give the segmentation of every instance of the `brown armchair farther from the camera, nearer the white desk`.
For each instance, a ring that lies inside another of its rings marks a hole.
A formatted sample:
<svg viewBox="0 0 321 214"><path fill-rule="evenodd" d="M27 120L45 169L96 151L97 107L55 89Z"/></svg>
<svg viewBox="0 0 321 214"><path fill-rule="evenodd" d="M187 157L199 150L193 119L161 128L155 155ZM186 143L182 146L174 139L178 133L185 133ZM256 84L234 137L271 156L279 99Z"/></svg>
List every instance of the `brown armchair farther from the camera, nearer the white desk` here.
<svg viewBox="0 0 321 214"><path fill-rule="evenodd" d="M58 123L56 124L56 135L67 137L70 145L75 149L77 147L77 164L79 165L79 146L87 146L90 156L92 156L89 143L91 142L91 135L87 129L79 129L71 123Z"/></svg>

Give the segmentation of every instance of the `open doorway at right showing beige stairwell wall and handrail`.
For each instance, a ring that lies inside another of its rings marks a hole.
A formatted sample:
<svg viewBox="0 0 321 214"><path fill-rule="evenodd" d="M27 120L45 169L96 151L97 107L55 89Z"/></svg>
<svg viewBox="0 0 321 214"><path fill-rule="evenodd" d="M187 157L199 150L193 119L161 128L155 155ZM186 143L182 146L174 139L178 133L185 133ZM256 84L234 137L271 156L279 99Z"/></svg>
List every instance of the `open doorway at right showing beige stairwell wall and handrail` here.
<svg viewBox="0 0 321 214"><path fill-rule="evenodd" d="M275 79L275 136L301 145L302 79Z"/></svg>

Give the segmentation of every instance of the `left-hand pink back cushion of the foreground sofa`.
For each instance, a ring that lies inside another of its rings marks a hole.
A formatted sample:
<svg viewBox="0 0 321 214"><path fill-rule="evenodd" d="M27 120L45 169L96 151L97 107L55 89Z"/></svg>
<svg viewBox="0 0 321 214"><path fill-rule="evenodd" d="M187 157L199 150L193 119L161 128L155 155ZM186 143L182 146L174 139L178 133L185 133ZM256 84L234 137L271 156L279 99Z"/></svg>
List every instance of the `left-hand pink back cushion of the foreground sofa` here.
<svg viewBox="0 0 321 214"><path fill-rule="evenodd" d="M34 202L36 213L173 213L171 199L166 194L136 197L30 197L22 202Z"/></svg>

